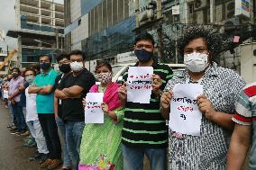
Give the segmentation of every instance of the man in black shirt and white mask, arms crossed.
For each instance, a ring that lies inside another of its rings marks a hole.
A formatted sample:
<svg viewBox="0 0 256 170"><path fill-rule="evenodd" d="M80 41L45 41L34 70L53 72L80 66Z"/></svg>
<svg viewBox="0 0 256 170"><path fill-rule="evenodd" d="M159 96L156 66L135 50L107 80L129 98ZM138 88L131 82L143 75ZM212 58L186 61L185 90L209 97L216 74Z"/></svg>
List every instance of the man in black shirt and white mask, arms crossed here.
<svg viewBox="0 0 256 170"><path fill-rule="evenodd" d="M86 97L96 79L85 68L85 54L80 50L69 54L72 73L60 81L55 96L61 100L62 120L65 122L66 143L74 169L78 169L79 148L85 126L82 99Z"/></svg>

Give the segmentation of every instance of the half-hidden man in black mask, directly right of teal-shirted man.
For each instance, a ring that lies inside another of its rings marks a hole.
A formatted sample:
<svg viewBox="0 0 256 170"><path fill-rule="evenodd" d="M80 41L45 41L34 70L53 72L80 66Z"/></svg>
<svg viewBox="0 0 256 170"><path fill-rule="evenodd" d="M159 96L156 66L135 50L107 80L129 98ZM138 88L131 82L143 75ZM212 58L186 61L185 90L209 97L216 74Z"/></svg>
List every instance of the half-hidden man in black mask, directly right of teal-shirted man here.
<svg viewBox="0 0 256 170"><path fill-rule="evenodd" d="M62 73L59 76L57 76L55 80L55 85L54 89L58 87L60 84L61 80L63 80L67 75L69 75L71 68L70 68L70 63L69 63L69 55L68 54L60 54L56 58L58 64L59 64L59 71ZM62 138L64 140L64 146L63 146L63 152L64 152L64 157L63 157L63 166L62 169L72 169L72 160L71 157L69 156L69 151L67 148L67 143L66 143L66 127L65 123L62 119L62 111L61 111L61 100L58 99L56 96L54 96L54 115L55 115L55 120L58 126L58 129L62 135Z"/></svg>

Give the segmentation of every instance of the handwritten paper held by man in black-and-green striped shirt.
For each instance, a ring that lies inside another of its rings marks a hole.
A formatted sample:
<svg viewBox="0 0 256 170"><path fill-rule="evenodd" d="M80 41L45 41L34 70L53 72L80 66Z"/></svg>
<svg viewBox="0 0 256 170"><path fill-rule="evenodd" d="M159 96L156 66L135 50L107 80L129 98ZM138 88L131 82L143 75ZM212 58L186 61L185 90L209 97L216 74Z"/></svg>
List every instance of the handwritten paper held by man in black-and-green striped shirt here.
<svg viewBox="0 0 256 170"><path fill-rule="evenodd" d="M127 101L150 103L153 67L129 67L127 78Z"/></svg>

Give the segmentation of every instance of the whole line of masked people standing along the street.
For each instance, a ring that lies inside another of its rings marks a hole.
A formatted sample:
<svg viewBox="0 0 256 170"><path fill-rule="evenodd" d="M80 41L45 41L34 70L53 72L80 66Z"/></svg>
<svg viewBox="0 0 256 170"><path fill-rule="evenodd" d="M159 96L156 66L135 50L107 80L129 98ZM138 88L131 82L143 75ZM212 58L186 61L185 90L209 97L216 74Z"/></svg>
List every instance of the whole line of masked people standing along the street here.
<svg viewBox="0 0 256 170"><path fill-rule="evenodd" d="M49 170L60 165L63 170L142 170L144 156L152 170L235 170L242 169L250 146L249 166L256 169L256 84L245 86L233 70L217 66L220 44L203 27L188 27L178 40L187 68L174 76L153 57L151 34L137 36L134 67L153 67L150 103L127 102L128 72L122 84L114 83L111 65L99 61L94 76L80 50L56 58L60 75L48 55L39 58L40 68L30 67L22 75L14 67L13 77L2 86L9 92L15 133L29 128L38 149L34 157ZM178 84L203 85L203 94L197 96L199 136L166 125ZM104 93L103 124L85 124L89 92ZM64 140L63 161L59 137Z"/></svg>

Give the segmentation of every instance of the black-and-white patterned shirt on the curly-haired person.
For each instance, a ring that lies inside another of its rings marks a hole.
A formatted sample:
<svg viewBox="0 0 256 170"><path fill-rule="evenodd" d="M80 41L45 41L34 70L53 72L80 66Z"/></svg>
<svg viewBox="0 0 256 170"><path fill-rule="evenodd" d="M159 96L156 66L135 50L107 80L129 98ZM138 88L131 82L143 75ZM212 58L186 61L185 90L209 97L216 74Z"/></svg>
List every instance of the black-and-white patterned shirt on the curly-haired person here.
<svg viewBox="0 0 256 170"><path fill-rule="evenodd" d="M176 84L187 82L187 69L173 76L166 85L170 90ZM201 84L204 94L213 103L216 112L233 114L234 103L242 87L245 85L242 77L233 70L217 67L216 63L206 70ZM169 169L186 170L224 170L226 154L231 132L224 130L203 115L200 136L183 135L183 139L173 136L169 130Z"/></svg>

